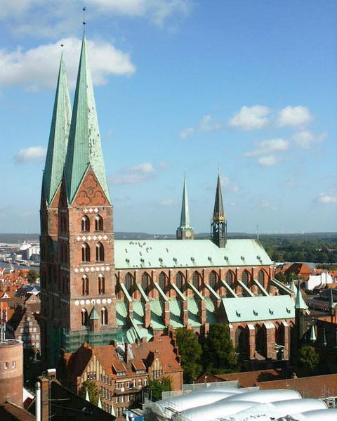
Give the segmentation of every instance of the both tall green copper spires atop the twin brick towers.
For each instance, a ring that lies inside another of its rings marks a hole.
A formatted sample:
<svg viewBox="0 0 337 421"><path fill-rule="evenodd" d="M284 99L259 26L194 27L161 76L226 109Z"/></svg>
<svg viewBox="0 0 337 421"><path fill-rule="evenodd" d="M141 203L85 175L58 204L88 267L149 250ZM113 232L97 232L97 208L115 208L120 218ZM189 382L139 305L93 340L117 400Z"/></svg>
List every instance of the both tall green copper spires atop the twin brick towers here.
<svg viewBox="0 0 337 421"><path fill-rule="evenodd" d="M43 181L47 207L51 205L63 174L67 201L71 204L89 168L110 202L84 34L73 111L62 56L60 60Z"/></svg>

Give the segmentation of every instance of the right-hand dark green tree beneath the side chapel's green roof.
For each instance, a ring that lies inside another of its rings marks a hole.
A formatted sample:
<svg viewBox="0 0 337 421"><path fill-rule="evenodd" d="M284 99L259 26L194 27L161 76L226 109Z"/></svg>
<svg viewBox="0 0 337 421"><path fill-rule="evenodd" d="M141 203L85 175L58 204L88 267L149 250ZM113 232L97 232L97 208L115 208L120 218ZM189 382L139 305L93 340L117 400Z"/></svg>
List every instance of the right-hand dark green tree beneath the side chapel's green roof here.
<svg viewBox="0 0 337 421"><path fill-rule="evenodd" d="M238 370L237 356L230 340L228 325L211 325L204 344L204 371L213 374L231 373Z"/></svg>

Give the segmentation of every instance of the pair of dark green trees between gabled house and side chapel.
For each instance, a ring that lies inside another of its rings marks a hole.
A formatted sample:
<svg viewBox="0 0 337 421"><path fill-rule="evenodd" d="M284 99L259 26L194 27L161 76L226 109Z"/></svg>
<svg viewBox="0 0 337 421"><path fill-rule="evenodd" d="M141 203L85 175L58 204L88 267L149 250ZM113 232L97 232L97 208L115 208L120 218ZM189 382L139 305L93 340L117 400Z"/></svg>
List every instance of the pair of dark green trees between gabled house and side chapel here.
<svg viewBox="0 0 337 421"><path fill-rule="evenodd" d="M184 383L192 383L206 371L233 373L239 369L228 325L211 325L209 335L200 343L193 330L176 330L176 340L184 369Z"/></svg>

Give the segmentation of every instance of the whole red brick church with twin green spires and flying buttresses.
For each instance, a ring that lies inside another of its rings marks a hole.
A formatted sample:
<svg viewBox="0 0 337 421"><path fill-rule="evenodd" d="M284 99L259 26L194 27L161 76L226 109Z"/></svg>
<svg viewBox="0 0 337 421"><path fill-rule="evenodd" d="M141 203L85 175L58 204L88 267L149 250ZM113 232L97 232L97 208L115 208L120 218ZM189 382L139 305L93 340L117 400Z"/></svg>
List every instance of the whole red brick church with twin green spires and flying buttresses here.
<svg viewBox="0 0 337 421"><path fill-rule="evenodd" d="M258 240L227 239L219 176L209 240L194 240L186 181L176 240L114 240L84 36L73 107L60 60L42 182L44 361L183 326L206 335L218 322L245 359L288 359L294 320L293 291L274 279Z"/></svg>

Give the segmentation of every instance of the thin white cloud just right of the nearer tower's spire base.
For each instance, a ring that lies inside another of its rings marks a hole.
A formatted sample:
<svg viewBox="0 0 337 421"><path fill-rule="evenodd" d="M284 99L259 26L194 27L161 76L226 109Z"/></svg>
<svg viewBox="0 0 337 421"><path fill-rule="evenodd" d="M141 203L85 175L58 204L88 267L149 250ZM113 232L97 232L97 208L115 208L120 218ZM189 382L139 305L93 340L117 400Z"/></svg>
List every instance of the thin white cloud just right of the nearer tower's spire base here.
<svg viewBox="0 0 337 421"><path fill-rule="evenodd" d="M110 177L110 183L112 184L137 184L143 183L144 181L153 179L158 174L158 170L164 168L159 166L154 167L151 162L143 162L133 167L121 169L117 174Z"/></svg>

